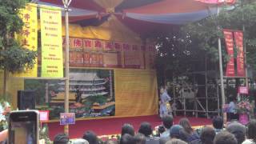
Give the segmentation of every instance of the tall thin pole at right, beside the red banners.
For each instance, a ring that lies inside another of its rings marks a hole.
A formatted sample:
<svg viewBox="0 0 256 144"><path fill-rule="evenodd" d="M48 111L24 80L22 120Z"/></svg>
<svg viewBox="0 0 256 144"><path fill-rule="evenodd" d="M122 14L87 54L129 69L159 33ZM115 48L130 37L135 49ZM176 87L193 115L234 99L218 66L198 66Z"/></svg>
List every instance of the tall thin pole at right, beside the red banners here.
<svg viewBox="0 0 256 144"><path fill-rule="evenodd" d="M217 14L219 14L219 8L217 6ZM220 27L218 26L218 32L220 32ZM221 92L222 92L222 108L225 105L225 92L224 92L224 82L223 82L223 69L222 69L222 44L221 38L218 37L218 62L219 62L219 74L221 79ZM224 117L224 114L222 113ZM225 118L223 118L225 119Z"/></svg>

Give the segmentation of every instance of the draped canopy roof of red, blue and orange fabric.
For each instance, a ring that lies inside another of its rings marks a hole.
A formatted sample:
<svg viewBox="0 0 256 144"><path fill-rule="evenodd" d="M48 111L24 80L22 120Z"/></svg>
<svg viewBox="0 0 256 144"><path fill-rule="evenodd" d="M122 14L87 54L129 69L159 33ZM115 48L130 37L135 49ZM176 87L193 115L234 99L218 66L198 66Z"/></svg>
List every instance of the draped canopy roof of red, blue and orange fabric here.
<svg viewBox="0 0 256 144"><path fill-rule="evenodd" d="M73 0L70 22L99 26L110 15L138 34L182 25L216 14L216 4L224 0ZM234 0L226 0L234 1ZM39 4L62 6L62 0L39 0Z"/></svg>

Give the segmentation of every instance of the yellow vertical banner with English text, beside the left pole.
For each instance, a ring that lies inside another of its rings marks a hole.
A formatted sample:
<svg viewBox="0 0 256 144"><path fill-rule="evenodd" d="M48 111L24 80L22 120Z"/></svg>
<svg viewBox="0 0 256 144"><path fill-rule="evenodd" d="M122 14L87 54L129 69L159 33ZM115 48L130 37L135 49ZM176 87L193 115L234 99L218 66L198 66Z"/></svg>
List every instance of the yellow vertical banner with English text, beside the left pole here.
<svg viewBox="0 0 256 144"><path fill-rule="evenodd" d="M45 6L40 9L42 77L62 78L62 12Z"/></svg>

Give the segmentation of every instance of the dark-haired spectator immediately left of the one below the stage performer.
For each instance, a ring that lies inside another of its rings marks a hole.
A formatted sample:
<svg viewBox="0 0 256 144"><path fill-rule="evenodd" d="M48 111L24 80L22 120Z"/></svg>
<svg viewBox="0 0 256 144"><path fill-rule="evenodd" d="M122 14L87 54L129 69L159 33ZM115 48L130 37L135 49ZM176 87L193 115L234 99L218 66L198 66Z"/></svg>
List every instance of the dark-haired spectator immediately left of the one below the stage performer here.
<svg viewBox="0 0 256 144"><path fill-rule="evenodd" d="M142 122L141 126L138 129L138 132L144 134L146 137L146 144L158 144L158 137L151 137L152 128L149 122Z"/></svg>

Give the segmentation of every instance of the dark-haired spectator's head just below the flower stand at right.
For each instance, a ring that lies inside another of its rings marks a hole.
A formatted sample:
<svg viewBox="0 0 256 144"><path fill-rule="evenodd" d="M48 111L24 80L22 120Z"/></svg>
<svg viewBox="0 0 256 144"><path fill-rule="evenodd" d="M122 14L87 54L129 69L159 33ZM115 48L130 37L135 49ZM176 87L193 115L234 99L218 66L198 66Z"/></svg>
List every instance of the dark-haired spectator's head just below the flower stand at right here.
<svg viewBox="0 0 256 144"><path fill-rule="evenodd" d="M230 123L230 125L226 127L226 130L231 134L234 134L238 144L241 144L246 139L246 126L243 126L241 123Z"/></svg>

